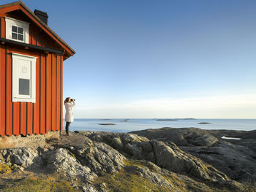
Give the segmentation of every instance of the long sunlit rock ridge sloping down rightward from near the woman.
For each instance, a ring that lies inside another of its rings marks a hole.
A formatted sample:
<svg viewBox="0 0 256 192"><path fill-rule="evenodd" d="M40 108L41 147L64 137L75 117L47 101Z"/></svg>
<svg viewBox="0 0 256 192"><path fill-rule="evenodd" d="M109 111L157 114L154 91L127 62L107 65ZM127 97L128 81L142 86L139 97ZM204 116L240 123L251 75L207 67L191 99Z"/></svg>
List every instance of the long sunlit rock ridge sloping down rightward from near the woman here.
<svg viewBox="0 0 256 192"><path fill-rule="evenodd" d="M78 132L84 134L84 132ZM157 166L180 174L189 174L200 180L213 182L229 180L214 167L204 164L199 158L184 153L173 142L161 142L138 137L135 134L92 133L87 134L93 141L105 142L124 155L151 161Z"/></svg>

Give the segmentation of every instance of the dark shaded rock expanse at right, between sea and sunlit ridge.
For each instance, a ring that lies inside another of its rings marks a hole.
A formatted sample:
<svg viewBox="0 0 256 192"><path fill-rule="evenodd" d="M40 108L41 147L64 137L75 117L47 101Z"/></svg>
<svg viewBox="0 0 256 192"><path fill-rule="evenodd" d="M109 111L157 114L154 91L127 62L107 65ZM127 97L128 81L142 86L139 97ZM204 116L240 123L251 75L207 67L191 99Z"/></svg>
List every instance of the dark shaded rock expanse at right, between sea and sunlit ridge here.
<svg viewBox="0 0 256 192"><path fill-rule="evenodd" d="M174 142L181 150L221 170L233 180L256 180L256 132L159 128L133 131L148 139ZM222 139L222 137L237 139Z"/></svg>

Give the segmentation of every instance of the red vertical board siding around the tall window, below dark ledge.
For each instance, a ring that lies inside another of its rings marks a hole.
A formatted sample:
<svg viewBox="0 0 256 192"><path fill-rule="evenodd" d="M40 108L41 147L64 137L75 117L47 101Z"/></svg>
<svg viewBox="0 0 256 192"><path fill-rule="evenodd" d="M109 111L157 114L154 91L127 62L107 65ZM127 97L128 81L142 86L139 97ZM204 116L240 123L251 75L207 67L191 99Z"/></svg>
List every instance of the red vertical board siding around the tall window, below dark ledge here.
<svg viewBox="0 0 256 192"><path fill-rule="evenodd" d="M36 103L12 102L11 53L37 57ZM62 131L62 61L62 55L0 45L0 136Z"/></svg>

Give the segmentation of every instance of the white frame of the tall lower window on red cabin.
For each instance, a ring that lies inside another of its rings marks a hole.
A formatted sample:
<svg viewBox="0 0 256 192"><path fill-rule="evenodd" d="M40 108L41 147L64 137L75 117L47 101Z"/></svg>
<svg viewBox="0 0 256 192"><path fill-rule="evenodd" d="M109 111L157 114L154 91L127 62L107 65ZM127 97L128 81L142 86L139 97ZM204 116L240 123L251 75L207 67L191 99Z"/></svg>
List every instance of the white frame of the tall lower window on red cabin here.
<svg viewBox="0 0 256 192"><path fill-rule="evenodd" d="M29 61L31 64L31 80L30 80L30 94L29 96L19 94L19 75L18 75L18 61ZM19 53L12 53L12 102L36 102L36 63L37 57L30 55L22 55Z"/></svg>

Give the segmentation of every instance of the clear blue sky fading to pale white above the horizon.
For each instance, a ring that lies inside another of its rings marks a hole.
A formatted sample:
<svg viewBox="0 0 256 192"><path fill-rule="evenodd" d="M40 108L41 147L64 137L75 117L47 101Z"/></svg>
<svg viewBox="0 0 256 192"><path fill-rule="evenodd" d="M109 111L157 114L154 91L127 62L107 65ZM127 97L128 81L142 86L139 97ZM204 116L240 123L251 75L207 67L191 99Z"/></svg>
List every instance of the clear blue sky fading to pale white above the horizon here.
<svg viewBox="0 0 256 192"><path fill-rule="evenodd" d="M255 0L23 2L76 51L75 118L256 118Z"/></svg>

